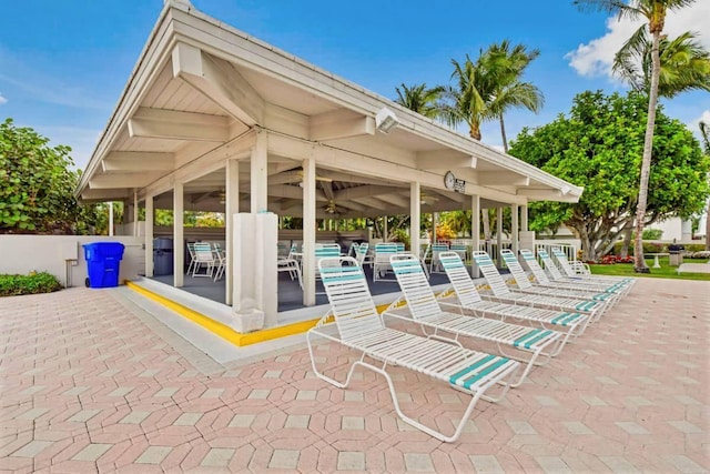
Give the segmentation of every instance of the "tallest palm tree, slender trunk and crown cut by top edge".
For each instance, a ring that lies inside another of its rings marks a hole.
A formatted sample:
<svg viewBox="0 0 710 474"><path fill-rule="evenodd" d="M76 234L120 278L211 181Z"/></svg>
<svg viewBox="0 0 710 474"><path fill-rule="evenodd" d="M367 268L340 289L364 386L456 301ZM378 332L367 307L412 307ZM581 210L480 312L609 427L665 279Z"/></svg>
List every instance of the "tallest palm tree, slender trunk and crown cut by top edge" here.
<svg viewBox="0 0 710 474"><path fill-rule="evenodd" d="M646 139L643 140L643 159L641 160L641 179L639 183L639 199L636 208L636 242L633 245L633 271L649 273L650 270L643 259L643 220L648 202L648 177L651 170L651 151L653 147L653 128L656 125L656 107L658 104L658 84L660 79L659 46L661 33L666 24L666 14L692 4L694 0L574 0L580 7L616 14L618 19L646 19L651 34L651 81L648 89L648 119L646 122ZM641 28L646 28L645 24ZM638 32L637 32L638 33Z"/></svg>

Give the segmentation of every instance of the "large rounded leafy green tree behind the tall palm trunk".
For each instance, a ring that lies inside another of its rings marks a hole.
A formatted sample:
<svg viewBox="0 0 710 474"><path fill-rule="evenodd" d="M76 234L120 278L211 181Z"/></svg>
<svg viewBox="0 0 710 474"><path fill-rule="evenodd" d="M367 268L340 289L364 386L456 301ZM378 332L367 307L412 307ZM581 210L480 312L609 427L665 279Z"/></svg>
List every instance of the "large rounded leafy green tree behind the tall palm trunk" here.
<svg viewBox="0 0 710 474"><path fill-rule="evenodd" d="M579 203L530 205L530 229L559 223L581 240L584 258L596 261L633 225L643 154L647 98L629 92L584 92L568 117L536 130L524 129L510 154L574 184L585 186ZM710 159L692 133L659 108L645 224L689 218L710 194Z"/></svg>

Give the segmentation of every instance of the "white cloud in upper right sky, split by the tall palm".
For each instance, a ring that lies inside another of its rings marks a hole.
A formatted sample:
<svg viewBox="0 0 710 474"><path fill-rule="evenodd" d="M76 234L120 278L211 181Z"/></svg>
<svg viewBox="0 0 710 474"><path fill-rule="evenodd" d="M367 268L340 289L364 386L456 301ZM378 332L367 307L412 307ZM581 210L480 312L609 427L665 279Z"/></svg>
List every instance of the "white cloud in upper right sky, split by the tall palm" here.
<svg viewBox="0 0 710 474"><path fill-rule="evenodd" d="M710 1L703 0L692 3L677 12L669 12L666 17L663 32L674 38L682 32L697 33L698 41L710 49ZM611 77L611 63L613 56L629 37L643 24L642 21L631 22L628 19L617 21L616 18L607 20L607 33L588 43L580 44L575 51L565 57L580 75L608 75Z"/></svg>

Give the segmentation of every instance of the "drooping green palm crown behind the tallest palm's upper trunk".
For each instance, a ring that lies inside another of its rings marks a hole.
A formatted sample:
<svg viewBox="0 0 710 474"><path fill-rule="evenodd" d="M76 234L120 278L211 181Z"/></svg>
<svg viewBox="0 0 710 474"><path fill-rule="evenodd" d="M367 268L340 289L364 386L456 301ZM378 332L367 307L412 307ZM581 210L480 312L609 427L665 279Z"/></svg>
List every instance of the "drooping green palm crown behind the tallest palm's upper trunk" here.
<svg viewBox="0 0 710 474"><path fill-rule="evenodd" d="M696 89L710 91L710 52L696 38L691 32L673 40L661 38L658 47L660 97L672 98ZM612 68L615 74L646 94L651 85L651 47L646 29L639 29L617 52Z"/></svg>

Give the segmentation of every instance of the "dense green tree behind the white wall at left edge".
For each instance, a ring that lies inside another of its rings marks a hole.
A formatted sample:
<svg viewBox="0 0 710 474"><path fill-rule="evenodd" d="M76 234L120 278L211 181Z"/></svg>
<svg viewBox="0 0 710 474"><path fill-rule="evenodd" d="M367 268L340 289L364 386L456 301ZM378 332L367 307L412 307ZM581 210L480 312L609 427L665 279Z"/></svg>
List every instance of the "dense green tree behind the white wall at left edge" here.
<svg viewBox="0 0 710 474"><path fill-rule="evenodd" d="M0 124L0 233L73 233L79 173L64 145L12 119Z"/></svg>

